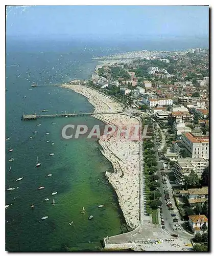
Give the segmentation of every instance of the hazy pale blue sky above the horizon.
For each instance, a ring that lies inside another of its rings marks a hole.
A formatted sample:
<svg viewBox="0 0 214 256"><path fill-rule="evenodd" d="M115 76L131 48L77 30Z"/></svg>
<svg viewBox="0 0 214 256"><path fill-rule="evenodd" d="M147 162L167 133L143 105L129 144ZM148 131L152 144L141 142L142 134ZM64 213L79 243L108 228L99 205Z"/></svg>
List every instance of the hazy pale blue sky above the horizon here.
<svg viewBox="0 0 214 256"><path fill-rule="evenodd" d="M20 37L208 36L208 6L8 6L6 33Z"/></svg>

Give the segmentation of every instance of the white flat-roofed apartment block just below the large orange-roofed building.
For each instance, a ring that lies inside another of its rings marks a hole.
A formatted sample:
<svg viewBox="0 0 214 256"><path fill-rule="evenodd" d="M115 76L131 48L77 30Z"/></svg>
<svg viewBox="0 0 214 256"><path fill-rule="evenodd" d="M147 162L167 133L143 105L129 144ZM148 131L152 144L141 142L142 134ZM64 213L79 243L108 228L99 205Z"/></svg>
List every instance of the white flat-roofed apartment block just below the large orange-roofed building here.
<svg viewBox="0 0 214 256"><path fill-rule="evenodd" d="M203 170L209 165L209 162L204 158L178 158L175 165L172 167L176 181L179 185L184 185L184 176L189 176L191 170L197 173L201 178Z"/></svg>

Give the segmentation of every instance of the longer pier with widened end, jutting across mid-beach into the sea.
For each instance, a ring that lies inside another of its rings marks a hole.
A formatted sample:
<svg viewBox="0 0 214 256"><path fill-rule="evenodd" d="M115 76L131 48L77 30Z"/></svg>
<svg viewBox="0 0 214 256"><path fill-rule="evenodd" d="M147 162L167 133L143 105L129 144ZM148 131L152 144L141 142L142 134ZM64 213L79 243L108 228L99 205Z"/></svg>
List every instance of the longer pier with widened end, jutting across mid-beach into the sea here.
<svg viewBox="0 0 214 256"><path fill-rule="evenodd" d="M74 116L91 116L91 115L105 115L105 114L121 114L121 115L127 115L122 112L91 112L91 113L65 113L65 114L51 114L51 115L26 115L23 114L21 116L21 120L35 120L37 118L55 118L55 117L74 117Z"/></svg>

